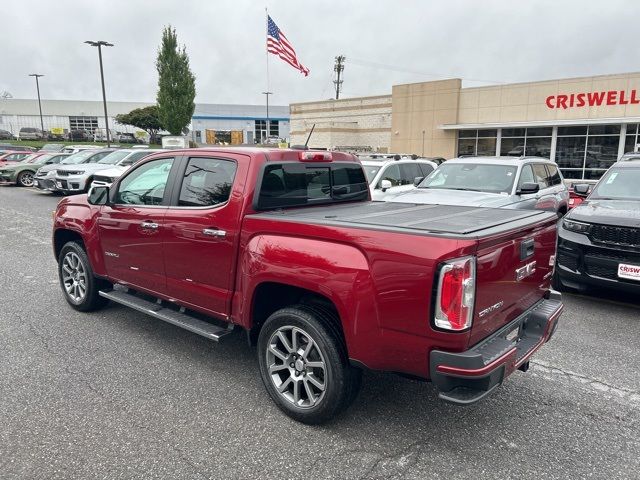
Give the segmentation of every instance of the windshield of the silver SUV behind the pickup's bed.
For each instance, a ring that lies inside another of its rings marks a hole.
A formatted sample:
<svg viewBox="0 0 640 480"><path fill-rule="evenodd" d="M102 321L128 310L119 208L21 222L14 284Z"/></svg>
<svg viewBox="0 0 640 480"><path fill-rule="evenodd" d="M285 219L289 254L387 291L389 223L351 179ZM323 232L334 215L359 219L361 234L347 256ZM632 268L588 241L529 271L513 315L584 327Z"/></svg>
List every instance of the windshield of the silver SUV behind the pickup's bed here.
<svg viewBox="0 0 640 480"><path fill-rule="evenodd" d="M418 188L510 193L517 167L481 163L445 163L425 178Z"/></svg>

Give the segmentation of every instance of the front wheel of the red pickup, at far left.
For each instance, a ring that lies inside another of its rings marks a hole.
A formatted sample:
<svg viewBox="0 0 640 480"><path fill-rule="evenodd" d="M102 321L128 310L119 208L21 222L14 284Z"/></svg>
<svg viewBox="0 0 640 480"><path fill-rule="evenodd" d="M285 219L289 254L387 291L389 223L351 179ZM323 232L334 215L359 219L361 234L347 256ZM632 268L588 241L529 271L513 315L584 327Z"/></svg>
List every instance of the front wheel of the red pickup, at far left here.
<svg viewBox="0 0 640 480"><path fill-rule="evenodd" d="M58 277L64 298L75 310L90 312L109 302L98 294L109 283L93 275L84 248L76 242L68 242L62 247L58 256Z"/></svg>

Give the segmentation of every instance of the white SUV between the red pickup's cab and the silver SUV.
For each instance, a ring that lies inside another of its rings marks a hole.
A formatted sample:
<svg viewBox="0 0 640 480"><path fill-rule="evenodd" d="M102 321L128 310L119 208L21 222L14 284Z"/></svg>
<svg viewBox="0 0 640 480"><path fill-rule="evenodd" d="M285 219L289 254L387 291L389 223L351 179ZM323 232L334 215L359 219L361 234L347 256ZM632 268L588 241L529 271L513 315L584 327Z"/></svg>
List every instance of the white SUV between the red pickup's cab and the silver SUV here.
<svg viewBox="0 0 640 480"><path fill-rule="evenodd" d="M359 158L367 175L371 199L376 201L384 200L387 195L412 190L443 160L400 155Z"/></svg>

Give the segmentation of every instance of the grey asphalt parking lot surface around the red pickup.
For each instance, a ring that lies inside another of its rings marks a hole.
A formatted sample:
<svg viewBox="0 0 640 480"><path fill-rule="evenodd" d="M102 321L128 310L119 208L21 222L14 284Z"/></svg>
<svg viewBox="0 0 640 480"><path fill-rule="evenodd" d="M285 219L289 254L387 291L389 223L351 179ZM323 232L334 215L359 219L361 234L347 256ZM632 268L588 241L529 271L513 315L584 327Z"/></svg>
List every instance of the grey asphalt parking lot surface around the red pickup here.
<svg viewBox="0 0 640 480"><path fill-rule="evenodd" d="M309 427L268 398L240 334L69 308L58 199L0 187L2 478L638 478L640 299L566 295L531 370L478 405L368 372L346 414Z"/></svg>

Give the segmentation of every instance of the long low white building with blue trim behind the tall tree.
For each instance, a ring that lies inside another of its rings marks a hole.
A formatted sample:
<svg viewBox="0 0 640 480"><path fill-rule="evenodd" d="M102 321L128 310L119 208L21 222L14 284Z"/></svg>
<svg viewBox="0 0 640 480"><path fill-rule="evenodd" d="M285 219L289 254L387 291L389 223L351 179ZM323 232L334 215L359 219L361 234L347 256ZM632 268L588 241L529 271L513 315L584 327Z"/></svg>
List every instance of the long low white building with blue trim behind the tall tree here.
<svg viewBox="0 0 640 480"><path fill-rule="evenodd" d="M114 132L144 134L130 125L120 125L114 117L144 102L107 102L109 128ZM47 131L104 129L101 101L42 100L42 120ZM40 128L36 99L0 98L0 130L17 134L23 127ZM254 143L265 137L289 138L289 107L269 106L269 132L265 105L224 105L196 103L189 135L201 144Z"/></svg>

